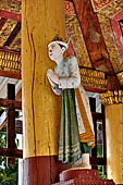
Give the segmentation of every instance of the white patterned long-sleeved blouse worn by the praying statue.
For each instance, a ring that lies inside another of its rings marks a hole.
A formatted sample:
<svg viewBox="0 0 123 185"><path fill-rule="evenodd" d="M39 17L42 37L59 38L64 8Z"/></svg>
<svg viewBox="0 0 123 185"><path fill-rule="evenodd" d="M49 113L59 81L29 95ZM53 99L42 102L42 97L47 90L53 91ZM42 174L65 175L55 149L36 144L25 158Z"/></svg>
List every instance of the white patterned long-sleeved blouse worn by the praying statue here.
<svg viewBox="0 0 123 185"><path fill-rule="evenodd" d="M52 88L57 95L61 95L62 89L79 87L79 69L74 55L69 59L64 59L59 65L56 66L54 72L60 76L59 84L56 84L54 88Z"/></svg>

